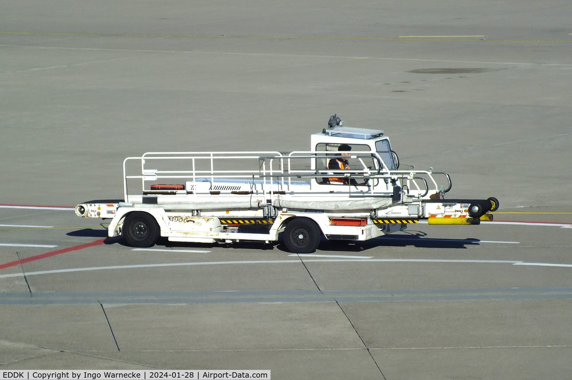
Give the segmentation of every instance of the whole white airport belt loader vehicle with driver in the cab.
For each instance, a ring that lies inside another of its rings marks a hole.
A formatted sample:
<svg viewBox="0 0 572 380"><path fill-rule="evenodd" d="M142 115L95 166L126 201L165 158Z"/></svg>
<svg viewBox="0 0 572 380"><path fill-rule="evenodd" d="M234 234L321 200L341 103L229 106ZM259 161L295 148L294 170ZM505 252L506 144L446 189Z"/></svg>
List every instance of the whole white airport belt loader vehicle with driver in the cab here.
<svg viewBox="0 0 572 380"><path fill-rule="evenodd" d="M334 115L310 141L310 150L288 153L128 157L124 199L85 202L76 214L110 218L109 236L122 235L134 247L152 246L160 236L177 242L271 242L283 232L288 250L311 253L322 235L365 241L420 219L478 225L498 209L492 197L444 199L452 186L446 173L400 170L382 130L341 126Z"/></svg>

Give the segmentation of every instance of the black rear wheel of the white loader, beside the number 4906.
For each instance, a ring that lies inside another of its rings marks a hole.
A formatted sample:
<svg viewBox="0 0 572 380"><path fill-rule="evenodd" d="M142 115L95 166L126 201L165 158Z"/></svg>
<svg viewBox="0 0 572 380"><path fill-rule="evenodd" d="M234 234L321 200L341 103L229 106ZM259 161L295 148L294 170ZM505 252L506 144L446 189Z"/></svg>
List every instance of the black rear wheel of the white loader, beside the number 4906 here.
<svg viewBox="0 0 572 380"><path fill-rule="evenodd" d="M125 217L121 235L132 247L146 248L155 245L161 230L157 221L148 213L136 211Z"/></svg>

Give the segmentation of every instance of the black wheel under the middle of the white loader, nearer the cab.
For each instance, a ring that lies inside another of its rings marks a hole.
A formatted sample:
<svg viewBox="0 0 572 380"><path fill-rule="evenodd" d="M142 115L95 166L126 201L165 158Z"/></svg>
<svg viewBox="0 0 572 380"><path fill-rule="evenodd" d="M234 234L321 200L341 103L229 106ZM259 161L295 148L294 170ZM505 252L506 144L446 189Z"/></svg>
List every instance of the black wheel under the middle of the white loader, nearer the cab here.
<svg viewBox="0 0 572 380"><path fill-rule="evenodd" d="M320 237L320 227L307 218L295 218L284 229L284 245L292 253L314 252Z"/></svg>

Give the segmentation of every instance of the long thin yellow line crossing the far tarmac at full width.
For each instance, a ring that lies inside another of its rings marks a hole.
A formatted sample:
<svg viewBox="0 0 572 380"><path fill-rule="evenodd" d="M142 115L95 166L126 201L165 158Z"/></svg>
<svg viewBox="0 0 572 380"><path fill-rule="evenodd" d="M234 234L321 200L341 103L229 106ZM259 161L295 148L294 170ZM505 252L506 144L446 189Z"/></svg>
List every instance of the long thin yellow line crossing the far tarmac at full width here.
<svg viewBox="0 0 572 380"><path fill-rule="evenodd" d="M285 36L285 35L198 35L198 34L102 34L102 33L39 33L21 31L0 31L0 34L19 35L64 35L80 37L153 37L153 38L267 38L267 39L332 39L332 40L363 40L363 41L458 41L458 42L572 42L572 39L443 39L445 37L309 37L309 36Z"/></svg>

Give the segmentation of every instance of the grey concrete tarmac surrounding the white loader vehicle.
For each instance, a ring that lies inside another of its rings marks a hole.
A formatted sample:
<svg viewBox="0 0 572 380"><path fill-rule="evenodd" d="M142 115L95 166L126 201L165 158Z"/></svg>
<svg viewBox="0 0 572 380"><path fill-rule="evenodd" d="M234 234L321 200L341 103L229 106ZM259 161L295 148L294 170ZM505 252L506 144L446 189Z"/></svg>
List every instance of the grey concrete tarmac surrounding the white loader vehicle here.
<svg viewBox="0 0 572 380"><path fill-rule="evenodd" d="M571 13L0 3L0 369L569 379ZM403 164L450 173L449 198L497 197L495 222L308 256L280 242L134 250L69 208L121 198L125 157L305 150L333 113L384 129Z"/></svg>

